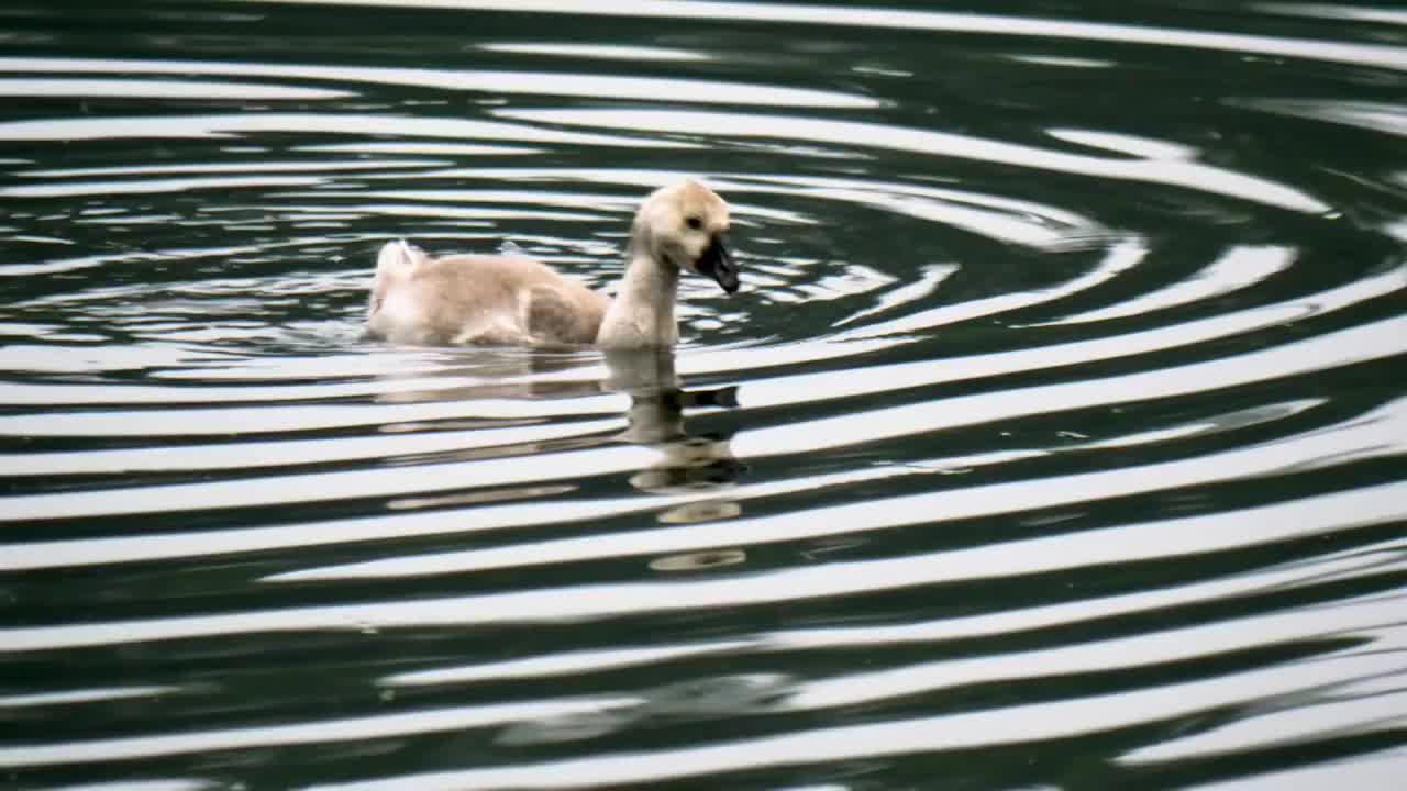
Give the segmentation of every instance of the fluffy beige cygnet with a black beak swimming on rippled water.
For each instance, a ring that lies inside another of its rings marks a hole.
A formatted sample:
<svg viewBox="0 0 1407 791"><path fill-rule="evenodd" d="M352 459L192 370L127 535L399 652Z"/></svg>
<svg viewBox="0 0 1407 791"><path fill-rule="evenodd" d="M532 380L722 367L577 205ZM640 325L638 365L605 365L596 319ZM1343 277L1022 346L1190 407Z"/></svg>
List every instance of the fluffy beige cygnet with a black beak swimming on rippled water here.
<svg viewBox="0 0 1407 791"><path fill-rule="evenodd" d="M635 215L613 300L526 258L431 258L388 242L376 262L367 329L397 343L673 346L681 270L737 290L727 225L727 204L698 182L656 190Z"/></svg>

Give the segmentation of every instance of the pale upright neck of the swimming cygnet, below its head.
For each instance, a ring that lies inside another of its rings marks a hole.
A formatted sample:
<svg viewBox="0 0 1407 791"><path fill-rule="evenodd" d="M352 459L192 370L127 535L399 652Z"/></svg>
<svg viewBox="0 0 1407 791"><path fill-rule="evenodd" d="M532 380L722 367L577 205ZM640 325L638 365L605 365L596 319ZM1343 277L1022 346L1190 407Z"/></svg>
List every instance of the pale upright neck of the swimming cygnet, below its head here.
<svg viewBox="0 0 1407 791"><path fill-rule="evenodd" d="M678 284L677 269L649 255L633 253L601 321L597 345L612 349L673 346L680 338L674 321Z"/></svg>

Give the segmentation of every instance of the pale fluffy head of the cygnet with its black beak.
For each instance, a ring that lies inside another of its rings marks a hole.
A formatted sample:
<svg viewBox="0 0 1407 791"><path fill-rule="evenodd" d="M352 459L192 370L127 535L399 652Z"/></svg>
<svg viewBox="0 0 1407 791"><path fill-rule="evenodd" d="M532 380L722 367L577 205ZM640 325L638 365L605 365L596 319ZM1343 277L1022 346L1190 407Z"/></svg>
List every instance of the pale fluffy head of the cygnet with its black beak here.
<svg viewBox="0 0 1407 791"><path fill-rule="evenodd" d="M637 253L666 266L712 277L732 294L737 290L737 265L727 251L727 203L687 179L644 198L630 243Z"/></svg>

